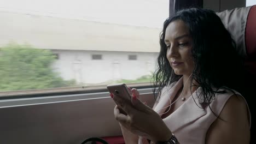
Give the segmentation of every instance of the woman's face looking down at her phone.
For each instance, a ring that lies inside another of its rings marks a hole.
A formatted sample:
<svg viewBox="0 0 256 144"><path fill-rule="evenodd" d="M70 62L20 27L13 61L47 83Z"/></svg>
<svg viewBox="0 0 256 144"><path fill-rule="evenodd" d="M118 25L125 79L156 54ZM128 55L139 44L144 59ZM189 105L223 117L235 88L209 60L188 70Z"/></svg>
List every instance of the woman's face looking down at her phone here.
<svg viewBox="0 0 256 144"><path fill-rule="evenodd" d="M182 20L171 22L165 32L166 57L176 75L190 75L194 68L192 38Z"/></svg>

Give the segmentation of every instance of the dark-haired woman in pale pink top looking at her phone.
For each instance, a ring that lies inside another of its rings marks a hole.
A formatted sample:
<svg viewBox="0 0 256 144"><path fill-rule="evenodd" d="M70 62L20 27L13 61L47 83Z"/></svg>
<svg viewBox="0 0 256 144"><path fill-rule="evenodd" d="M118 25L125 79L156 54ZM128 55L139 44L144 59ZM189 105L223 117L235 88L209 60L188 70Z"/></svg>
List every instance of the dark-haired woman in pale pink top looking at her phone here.
<svg viewBox="0 0 256 144"><path fill-rule="evenodd" d="M165 21L160 46L154 110L136 89L132 104L110 94L126 143L249 143L242 59L214 11L179 11Z"/></svg>

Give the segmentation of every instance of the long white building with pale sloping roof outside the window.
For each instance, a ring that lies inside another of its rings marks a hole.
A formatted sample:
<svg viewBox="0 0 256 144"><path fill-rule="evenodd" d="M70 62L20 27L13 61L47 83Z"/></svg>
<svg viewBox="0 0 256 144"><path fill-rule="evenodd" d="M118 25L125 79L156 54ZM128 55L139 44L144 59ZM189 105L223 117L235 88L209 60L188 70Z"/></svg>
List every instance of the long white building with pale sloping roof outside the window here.
<svg viewBox="0 0 256 144"><path fill-rule="evenodd" d="M10 12L0 17L0 46L28 43L52 50L58 56L53 68L65 80L134 80L155 70L160 28Z"/></svg>

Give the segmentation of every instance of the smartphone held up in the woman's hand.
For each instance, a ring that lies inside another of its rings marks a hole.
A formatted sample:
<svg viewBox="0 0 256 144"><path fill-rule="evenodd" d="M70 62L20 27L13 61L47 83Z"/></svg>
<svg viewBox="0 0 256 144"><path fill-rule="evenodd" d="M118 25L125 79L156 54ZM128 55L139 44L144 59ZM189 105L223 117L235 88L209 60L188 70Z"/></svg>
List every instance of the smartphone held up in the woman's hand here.
<svg viewBox="0 0 256 144"><path fill-rule="evenodd" d="M131 101L131 95L125 83L116 83L112 85L107 85L107 89L110 93L117 95L117 97L122 97L125 100Z"/></svg>

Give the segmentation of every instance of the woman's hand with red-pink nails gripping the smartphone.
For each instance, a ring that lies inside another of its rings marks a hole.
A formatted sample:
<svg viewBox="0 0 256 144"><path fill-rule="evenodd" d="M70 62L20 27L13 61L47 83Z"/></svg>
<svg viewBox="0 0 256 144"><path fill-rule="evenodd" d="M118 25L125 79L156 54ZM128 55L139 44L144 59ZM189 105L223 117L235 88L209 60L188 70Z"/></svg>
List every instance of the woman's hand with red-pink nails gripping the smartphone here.
<svg viewBox="0 0 256 144"><path fill-rule="evenodd" d="M172 133L165 125L162 118L149 106L145 105L137 97L137 90L132 90L131 103L113 94L117 106L114 108L115 119L133 134L145 137L154 142L166 141L171 138ZM124 110L125 113L122 113Z"/></svg>

